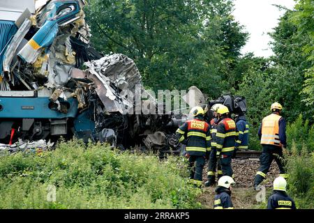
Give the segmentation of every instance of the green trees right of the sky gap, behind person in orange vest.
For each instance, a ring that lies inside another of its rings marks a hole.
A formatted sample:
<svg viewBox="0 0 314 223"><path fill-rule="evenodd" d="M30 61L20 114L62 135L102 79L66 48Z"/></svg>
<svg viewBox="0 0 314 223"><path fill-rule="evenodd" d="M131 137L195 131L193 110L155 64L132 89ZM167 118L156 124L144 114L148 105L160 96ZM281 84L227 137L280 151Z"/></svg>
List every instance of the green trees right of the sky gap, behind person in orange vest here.
<svg viewBox="0 0 314 223"><path fill-rule="evenodd" d="M308 3L307 0L299 1L296 10L287 10L274 32L270 33L274 39L271 47L275 56L261 59L248 54L239 59L238 66L234 69L241 73L241 81L234 93L246 97L248 122L251 124L250 148L260 148L257 129L262 118L269 114L272 102L280 102L283 105L282 116L288 123L296 121L299 114L307 120L305 132L297 123L290 125L290 130L287 130L288 144L291 145L292 140L295 140L297 148L301 148L302 144L307 144L309 149L313 148L313 97L301 93L314 92L311 84L303 84L312 81L307 77L308 71L313 71L313 61L311 56L309 57L313 54L310 50L313 36L311 37L309 28L309 24L313 22L313 4L308 6ZM311 7L312 13L309 13ZM304 17L304 22L301 22L300 16ZM310 73L313 75L313 72ZM302 118L298 120L302 124Z"/></svg>

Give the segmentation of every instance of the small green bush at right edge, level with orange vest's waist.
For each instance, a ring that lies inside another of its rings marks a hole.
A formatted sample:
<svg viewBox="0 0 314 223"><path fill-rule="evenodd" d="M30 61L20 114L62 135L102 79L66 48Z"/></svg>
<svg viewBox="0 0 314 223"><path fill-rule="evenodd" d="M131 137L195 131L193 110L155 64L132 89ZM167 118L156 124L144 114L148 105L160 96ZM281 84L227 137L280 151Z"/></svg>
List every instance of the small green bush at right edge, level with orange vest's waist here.
<svg viewBox="0 0 314 223"><path fill-rule="evenodd" d="M309 125L309 121L303 121L300 114L296 121L287 124L287 144L288 146L295 143L298 151L301 151L303 146L308 148L308 151L314 151L314 126Z"/></svg>

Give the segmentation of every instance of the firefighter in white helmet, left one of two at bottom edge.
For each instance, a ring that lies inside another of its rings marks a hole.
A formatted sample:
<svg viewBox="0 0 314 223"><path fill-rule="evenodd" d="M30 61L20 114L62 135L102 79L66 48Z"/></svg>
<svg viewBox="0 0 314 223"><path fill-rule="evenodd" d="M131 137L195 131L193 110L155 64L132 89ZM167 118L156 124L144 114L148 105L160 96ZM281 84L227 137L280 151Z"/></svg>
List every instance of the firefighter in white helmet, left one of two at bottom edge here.
<svg viewBox="0 0 314 223"><path fill-rule="evenodd" d="M222 176L218 180L214 198L214 209L234 209L231 200L231 190L234 180L230 176Z"/></svg>

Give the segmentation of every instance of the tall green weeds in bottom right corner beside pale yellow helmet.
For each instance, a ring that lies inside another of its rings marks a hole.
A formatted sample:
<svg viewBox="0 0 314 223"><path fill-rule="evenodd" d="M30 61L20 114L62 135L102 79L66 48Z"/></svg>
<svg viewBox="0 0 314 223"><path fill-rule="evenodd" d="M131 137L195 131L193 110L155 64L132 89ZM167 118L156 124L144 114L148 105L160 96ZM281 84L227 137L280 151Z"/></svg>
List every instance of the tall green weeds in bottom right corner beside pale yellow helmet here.
<svg viewBox="0 0 314 223"><path fill-rule="evenodd" d="M292 145L292 154L287 155L288 194L292 196L297 208L314 208L314 153L308 153L304 146L298 151Z"/></svg>

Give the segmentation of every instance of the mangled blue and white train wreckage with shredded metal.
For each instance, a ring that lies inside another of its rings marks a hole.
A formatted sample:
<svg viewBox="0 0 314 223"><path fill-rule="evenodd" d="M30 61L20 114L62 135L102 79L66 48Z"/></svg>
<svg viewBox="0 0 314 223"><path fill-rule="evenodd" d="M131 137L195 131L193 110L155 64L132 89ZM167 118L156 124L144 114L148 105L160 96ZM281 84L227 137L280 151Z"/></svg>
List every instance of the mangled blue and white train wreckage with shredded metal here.
<svg viewBox="0 0 314 223"><path fill-rule="evenodd" d="M1 0L0 151L46 149L53 143L45 139L61 136L109 141L121 149L177 150L174 133L187 117L124 114L134 107L126 91L146 93L141 105L156 111L158 105L142 87L133 60L103 56L89 45L85 5L52 0L35 10L33 0ZM80 69L83 65L87 70ZM191 92L195 98L189 102ZM190 106L205 103L194 86L182 98Z"/></svg>

